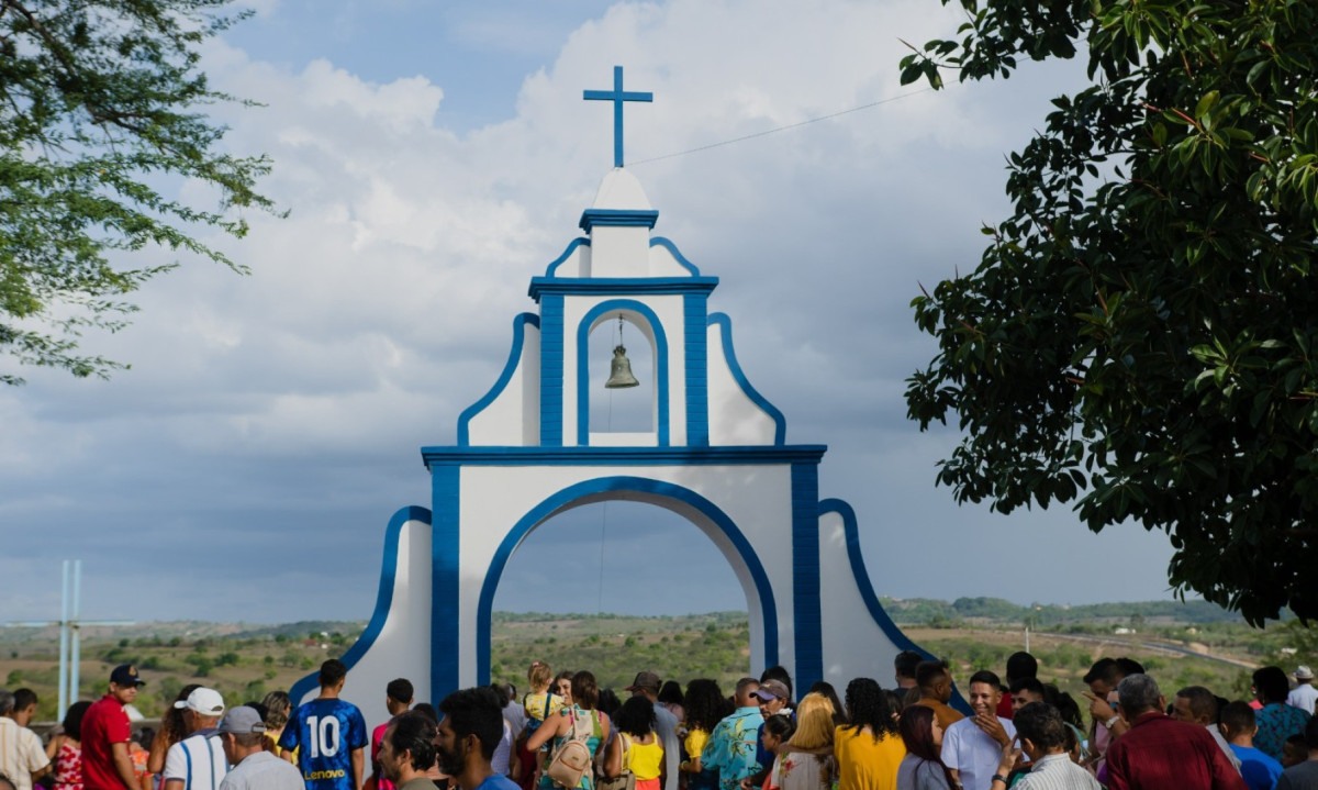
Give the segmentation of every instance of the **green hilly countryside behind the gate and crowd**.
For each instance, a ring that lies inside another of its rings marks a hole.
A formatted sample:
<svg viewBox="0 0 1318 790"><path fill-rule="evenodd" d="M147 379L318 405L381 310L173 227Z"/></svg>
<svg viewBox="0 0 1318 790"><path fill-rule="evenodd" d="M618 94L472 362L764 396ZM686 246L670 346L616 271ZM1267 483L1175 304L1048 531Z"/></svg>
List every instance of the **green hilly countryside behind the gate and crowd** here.
<svg viewBox="0 0 1318 790"><path fill-rule="evenodd" d="M1007 655L1024 645L1040 675L1073 694L1099 655L1141 661L1165 691L1205 684L1223 696L1248 690L1253 666L1318 665L1318 633L1297 620L1251 628L1238 616L1202 601L1148 601L1081 607L1017 605L994 597L883 599L892 619L934 655L946 657L963 682L977 669L1002 670ZM138 698L146 716L157 716L178 690L192 682L220 690L229 700L261 698L289 688L322 661L341 655L365 623L303 621L285 625L232 623L145 623L88 626L83 632L83 699L99 696L116 663L136 663L148 686ZM714 678L730 688L737 678L758 674L750 666L750 625L745 612L637 617L496 612L492 677L526 686L532 659L555 671L589 669L601 687L619 690L639 670L688 681ZM0 629L0 682L28 686L41 696L38 717L54 717L58 630ZM891 667L874 677L891 684Z"/></svg>

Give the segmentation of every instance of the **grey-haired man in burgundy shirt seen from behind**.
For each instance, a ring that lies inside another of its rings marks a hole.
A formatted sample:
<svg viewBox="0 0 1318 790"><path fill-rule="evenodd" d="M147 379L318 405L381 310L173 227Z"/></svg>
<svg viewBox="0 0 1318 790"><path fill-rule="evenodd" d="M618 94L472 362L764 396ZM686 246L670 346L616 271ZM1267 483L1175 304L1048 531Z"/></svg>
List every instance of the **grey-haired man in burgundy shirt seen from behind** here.
<svg viewBox="0 0 1318 790"><path fill-rule="evenodd" d="M1116 696L1131 728L1107 750L1110 790L1247 790L1206 729L1162 712L1153 678L1127 675Z"/></svg>

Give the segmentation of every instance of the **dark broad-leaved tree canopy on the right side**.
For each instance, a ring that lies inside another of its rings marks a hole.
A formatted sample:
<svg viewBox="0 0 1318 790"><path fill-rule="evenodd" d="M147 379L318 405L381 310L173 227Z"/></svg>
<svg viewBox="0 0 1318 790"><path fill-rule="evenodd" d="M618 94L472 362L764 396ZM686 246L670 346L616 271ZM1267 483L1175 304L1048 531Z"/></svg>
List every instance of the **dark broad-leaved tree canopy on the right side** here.
<svg viewBox="0 0 1318 790"><path fill-rule="evenodd" d="M1176 590L1318 616L1318 3L960 4L904 83L1081 53L1089 83L1011 154L975 270L913 302L909 417L965 434L938 483L1164 530Z"/></svg>

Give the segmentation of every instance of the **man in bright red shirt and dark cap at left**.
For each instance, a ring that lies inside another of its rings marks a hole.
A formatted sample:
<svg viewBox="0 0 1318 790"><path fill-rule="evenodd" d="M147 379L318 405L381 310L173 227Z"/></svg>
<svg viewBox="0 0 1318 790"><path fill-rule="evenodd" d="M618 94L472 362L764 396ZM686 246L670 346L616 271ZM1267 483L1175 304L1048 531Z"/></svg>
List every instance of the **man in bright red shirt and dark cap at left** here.
<svg viewBox="0 0 1318 790"><path fill-rule="evenodd" d="M130 663L109 673L109 694L94 702L83 715L84 790L137 790L137 773L128 753L132 727L124 706L137 699L142 679Z"/></svg>

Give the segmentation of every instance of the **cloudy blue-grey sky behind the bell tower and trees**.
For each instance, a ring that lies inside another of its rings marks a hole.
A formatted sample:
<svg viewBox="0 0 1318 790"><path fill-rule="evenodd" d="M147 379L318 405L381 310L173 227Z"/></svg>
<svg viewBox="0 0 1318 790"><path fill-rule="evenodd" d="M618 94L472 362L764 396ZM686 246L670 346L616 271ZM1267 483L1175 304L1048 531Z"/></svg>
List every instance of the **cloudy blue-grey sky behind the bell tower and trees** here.
<svg viewBox="0 0 1318 790"><path fill-rule="evenodd" d="M978 261L981 224L1007 211L1004 154L1074 67L902 87L899 38L960 22L937 0L256 9L206 65L264 104L216 112L227 146L273 157L264 190L290 215L212 239L250 276L183 261L130 328L88 338L130 371L25 369L0 389L0 619L57 616L65 558L83 559L88 617L368 617L389 517L430 504L418 447L455 442L513 317L535 310L527 280L612 165L609 109L581 91L616 63L655 94L627 111L655 232L721 278L710 309L788 442L829 444L821 495L855 508L880 595L1169 596L1165 535L957 506L933 485L956 435L904 418L903 381L933 349L908 303ZM547 522L503 579L496 605L514 611L745 605L696 528L622 504Z"/></svg>

